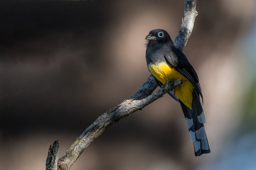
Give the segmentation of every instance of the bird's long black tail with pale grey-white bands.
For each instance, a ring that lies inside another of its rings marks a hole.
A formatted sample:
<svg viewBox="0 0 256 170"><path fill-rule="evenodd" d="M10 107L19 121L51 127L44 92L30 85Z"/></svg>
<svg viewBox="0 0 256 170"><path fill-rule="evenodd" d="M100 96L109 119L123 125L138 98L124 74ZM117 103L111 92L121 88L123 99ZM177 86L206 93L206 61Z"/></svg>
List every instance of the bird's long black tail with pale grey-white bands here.
<svg viewBox="0 0 256 170"><path fill-rule="evenodd" d="M211 151L204 129L204 111L198 92L196 90L193 92L192 109L189 109L181 101L180 105L188 125L190 142L194 144L195 155L200 156L204 153L210 153Z"/></svg>

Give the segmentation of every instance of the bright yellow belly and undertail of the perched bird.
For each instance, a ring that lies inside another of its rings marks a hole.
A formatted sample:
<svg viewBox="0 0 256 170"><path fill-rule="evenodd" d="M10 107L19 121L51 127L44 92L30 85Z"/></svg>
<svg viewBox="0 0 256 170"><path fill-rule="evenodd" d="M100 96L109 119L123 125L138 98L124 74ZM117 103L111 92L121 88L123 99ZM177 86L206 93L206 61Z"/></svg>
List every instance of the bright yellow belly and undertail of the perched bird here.
<svg viewBox="0 0 256 170"><path fill-rule="evenodd" d="M157 80L161 81L163 84L170 79L182 79L183 83L176 87L176 96L180 99L182 103L192 109L192 100L193 100L193 90L194 86L190 83L190 81L180 74L174 68L171 68L168 64L161 62L156 64L148 64L149 71L156 77ZM173 89L174 91L174 89Z"/></svg>

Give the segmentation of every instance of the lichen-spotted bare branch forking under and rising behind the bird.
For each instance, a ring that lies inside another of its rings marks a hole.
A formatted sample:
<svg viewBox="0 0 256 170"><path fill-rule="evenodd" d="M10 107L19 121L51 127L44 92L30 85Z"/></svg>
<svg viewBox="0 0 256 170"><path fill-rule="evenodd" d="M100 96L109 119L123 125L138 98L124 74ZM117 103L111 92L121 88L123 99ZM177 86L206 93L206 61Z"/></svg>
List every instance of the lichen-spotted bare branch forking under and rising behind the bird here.
<svg viewBox="0 0 256 170"><path fill-rule="evenodd" d="M174 44L184 49L190 34L193 29L194 21L197 15L196 0L185 0L184 14L182 24L177 34ZM131 115L137 110L142 110L145 106L152 103L156 99L163 96L166 92L171 91L173 88L182 83L179 80L169 80L163 88L157 90L154 94L152 92L156 89L157 83L151 74L148 79L143 83L140 89L133 94L128 100L117 105L116 107L108 110L103 115L98 117L68 148L64 155L58 161L58 169L68 170L82 154L90 143L96 139L100 134L105 131L110 125L116 123L120 119ZM152 95L150 95L152 94ZM54 168L52 170L55 170Z"/></svg>

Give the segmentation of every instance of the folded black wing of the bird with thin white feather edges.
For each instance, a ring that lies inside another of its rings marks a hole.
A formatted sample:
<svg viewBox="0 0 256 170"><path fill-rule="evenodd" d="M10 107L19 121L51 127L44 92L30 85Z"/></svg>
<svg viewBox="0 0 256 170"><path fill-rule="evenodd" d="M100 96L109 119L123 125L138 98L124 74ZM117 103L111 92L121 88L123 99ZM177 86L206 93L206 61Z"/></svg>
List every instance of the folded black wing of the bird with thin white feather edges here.
<svg viewBox="0 0 256 170"><path fill-rule="evenodd" d="M172 67L176 68L180 74L182 74L192 83L196 91L202 97L203 102L203 94L199 84L198 76L184 53L182 53L182 51L180 51L180 49L176 46L171 45L168 46L168 49L165 49L164 57Z"/></svg>

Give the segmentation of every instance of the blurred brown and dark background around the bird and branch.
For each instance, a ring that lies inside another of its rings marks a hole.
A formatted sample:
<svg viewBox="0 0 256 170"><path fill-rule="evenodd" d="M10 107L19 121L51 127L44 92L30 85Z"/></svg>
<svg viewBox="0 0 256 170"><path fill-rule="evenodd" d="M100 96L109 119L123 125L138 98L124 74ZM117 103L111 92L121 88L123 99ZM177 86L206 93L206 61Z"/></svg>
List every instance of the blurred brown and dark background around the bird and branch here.
<svg viewBox="0 0 256 170"><path fill-rule="evenodd" d="M184 1L0 2L0 166L44 169L105 111L150 75L145 37L175 39ZM110 126L83 152L80 169L254 169L255 1L198 1L184 53L204 95L210 154L195 157L180 108L165 95Z"/></svg>

